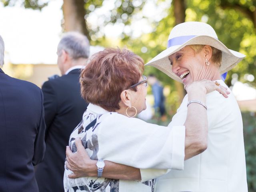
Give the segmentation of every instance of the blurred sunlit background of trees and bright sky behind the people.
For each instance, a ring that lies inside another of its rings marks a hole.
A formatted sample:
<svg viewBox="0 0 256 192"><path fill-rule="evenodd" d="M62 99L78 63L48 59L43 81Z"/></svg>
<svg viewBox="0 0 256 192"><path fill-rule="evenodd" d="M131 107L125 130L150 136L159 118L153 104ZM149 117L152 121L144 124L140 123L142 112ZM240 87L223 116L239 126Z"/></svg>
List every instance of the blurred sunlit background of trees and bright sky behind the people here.
<svg viewBox="0 0 256 192"><path fill-rule="evenodd" d="M170 30L184 21L210 24L228 48L246 58L228 72L226 84L242 110L249 191L256 191L256 1L254 0L0 0L0 35L5 42L4 72L41 86L60 74L56 48L65 31L90 38L91 54L126 47L145 62L166 48ZM164 86L168 119L184 97L182 84L153 67ZM151 89L148 100L152 105Z"/></svg>

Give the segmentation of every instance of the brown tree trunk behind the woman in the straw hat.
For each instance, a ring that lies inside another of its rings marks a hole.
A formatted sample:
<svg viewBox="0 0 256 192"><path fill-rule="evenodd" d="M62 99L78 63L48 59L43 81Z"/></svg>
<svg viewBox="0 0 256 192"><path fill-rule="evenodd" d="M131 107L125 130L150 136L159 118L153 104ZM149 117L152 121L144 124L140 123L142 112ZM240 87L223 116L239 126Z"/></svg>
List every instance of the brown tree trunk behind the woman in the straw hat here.
<svg viewBox="0 0 256 192"><path fill-rule="evenodd" d="M185 22L185 1L184 0L173 0L174 6L174 17L175 17L175 24L178 25L180 23ZM182 103L182 100L186 94L186 90L184 90L184 85L178 81L175 81L176 90L179 94L179 102Z"/></svg>

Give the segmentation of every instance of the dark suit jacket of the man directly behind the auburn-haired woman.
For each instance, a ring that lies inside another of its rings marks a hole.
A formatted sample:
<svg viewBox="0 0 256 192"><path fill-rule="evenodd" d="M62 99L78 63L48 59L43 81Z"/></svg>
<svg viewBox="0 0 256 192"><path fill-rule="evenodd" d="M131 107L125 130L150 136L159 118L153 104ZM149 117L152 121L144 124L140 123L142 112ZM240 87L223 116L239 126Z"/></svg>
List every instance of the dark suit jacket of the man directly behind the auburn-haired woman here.
<svg viewBox="0 0 256 192"><path fill-rule="evenodd" d="M88 105L80 95L79 75L80 70L75 69L42 86L47 131L45 157L36 169L40 192L64 191L66 146Z"/></svg>

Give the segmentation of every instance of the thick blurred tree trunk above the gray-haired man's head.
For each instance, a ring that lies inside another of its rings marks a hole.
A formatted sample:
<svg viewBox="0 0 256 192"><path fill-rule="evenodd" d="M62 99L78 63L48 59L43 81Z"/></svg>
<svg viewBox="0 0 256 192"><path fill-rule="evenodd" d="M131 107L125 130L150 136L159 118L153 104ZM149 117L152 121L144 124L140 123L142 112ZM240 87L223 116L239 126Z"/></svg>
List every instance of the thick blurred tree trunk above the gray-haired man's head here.
<svg viewBox="0 0 256 192"><path fill-rule="evenodd" d="M64 30L77 31L90 39L84 16L84 0L63 0Z"/></svg>

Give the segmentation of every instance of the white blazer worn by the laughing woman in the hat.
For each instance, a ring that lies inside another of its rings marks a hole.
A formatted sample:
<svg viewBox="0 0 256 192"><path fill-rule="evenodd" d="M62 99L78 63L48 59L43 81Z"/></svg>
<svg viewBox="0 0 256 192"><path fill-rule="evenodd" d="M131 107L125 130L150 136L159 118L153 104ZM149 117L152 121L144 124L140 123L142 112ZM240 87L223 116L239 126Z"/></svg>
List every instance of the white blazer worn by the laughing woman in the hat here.
<svg viewBox="0 0 256 192"><path fill-rule="evenodd" d="M221 85L226 86L222 80ZM227 86L226 86L227 87ZM185 122L188 96L169 126ZM207 94L208 148L157 179L155 192L248 192L242 116L234 95Z"/></svg>

